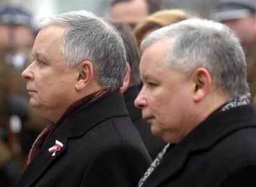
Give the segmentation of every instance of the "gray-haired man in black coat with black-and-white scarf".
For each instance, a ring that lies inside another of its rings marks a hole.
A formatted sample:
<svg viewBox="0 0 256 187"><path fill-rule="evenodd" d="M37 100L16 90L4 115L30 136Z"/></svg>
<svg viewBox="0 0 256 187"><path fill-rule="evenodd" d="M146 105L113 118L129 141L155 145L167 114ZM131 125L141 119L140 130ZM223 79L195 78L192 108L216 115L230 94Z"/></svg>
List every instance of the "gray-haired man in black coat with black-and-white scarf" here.
<svg viewBox="0 0 256 187"><path fill-rule="evenodd" d="M139 186L256 186L256 113L233 31L185 20L151 33L142 50L135 105L168 144Z"/></svg>

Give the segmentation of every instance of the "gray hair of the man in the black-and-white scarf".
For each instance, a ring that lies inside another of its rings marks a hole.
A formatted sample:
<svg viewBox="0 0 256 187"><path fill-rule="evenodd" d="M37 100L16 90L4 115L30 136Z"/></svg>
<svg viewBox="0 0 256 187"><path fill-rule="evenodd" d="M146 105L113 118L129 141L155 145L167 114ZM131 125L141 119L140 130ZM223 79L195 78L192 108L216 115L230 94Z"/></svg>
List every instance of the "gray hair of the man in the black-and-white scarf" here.
<svg viewBox="0 0 256 187"><path fill-rule="evenodd" d="M189 76L199 67L208 70L216 86L231 97L249 92L245 55L239 39L227 26L190 19L151 33L142 50L160 39L171 39L166 65Z"/></svg>

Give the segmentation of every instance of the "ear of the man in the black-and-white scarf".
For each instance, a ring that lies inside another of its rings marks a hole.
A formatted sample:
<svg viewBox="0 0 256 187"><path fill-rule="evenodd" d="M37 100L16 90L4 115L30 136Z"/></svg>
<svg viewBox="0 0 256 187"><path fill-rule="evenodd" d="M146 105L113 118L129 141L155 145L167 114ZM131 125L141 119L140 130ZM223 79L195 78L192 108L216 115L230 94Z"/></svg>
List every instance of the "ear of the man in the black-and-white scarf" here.
<svg viewBox="0 0 256 187"><path fill-rule="evenodd" d="M209 92L211 87L211 76L205 68L197 68L192 73L192 80L194 81L194 95L195 102L201 101Z"/></svg>

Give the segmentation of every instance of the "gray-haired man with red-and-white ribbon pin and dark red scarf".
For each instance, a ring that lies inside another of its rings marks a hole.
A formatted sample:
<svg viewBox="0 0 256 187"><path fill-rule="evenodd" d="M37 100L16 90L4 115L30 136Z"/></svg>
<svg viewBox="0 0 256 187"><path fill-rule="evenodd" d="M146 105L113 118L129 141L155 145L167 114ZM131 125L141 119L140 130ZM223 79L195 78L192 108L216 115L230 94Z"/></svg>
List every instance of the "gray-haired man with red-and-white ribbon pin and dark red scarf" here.
<svg viewBox="0 0 256 187"><path fill-rule="evenodd" d="M39 26L22 77L30 105L53 122L36 138L16 186L135 186L150 156L120 94L121 36L85 10Z"/></svg>

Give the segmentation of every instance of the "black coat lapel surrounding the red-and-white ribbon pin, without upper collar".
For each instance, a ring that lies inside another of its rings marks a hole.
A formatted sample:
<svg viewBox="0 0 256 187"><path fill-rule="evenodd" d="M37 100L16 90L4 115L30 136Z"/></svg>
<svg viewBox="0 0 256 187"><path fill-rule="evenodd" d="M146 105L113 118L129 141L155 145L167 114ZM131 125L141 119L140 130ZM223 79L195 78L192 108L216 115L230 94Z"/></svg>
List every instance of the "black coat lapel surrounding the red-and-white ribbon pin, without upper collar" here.
<svg viewBox="0 0 256 187"><path fill-rule="evenodd" d="M53 153L49 153L49 148L53 147L56 140L63 144L60 151L56 152L55 156ZM45 172L53 161L59 159L61 155L65 152L67 146L67 124L62 124L59 129L54 133L53 137L49 139L48 142L43 145L40 152L36 154L32 162L28 165L27 169L22 173L16 186L32 186L38 178Z"/></svg>

